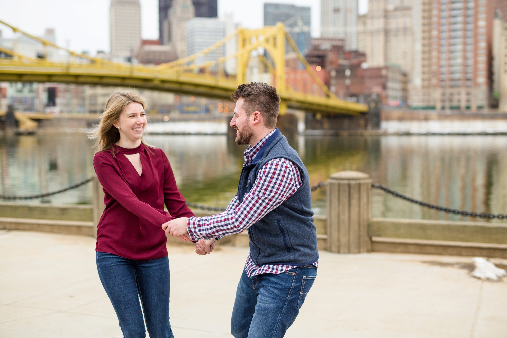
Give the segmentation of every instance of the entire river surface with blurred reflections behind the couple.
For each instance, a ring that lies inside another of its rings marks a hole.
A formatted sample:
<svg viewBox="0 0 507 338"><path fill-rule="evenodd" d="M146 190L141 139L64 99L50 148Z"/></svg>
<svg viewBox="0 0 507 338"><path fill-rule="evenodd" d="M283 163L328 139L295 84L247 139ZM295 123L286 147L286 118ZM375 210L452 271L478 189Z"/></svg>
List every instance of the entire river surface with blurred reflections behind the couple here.
<svg viewBox="0 0 507 338"><path fill-rule="evenodd" d="M227 136L148 135L146 141L167 154L188 201L228 205L245 146ZM356 170L433 204L507 213L507 136L296 136L289 143L308 168L312 185L335 172ZM84 133L0 137L0 194L51 192L92 176L92 144ZM18 202L91 204L91 185ZM325 215L325 188L312 193L312 209ZM373 189L373 216L481 221L428 210L378 189Z"/></svg>

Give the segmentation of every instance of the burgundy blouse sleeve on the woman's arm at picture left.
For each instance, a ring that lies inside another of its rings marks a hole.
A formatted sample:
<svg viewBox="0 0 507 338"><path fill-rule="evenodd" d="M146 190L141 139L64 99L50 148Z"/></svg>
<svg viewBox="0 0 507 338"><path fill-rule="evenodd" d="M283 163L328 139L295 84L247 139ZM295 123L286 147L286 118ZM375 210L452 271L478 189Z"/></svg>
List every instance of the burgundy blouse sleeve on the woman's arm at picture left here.
<svg viewBox="0 0 507 338"><path fill-rule="evenodd" d="M117 168L115 168L113 163L104 154L97 153L95 155L93 158L93 166L97 178L104 190L132 214L157 227L161 227L163 223L174 219L169 213L155 209L148 203L140 201L132 192L132 189L125 179L120 176Z"/></svg>

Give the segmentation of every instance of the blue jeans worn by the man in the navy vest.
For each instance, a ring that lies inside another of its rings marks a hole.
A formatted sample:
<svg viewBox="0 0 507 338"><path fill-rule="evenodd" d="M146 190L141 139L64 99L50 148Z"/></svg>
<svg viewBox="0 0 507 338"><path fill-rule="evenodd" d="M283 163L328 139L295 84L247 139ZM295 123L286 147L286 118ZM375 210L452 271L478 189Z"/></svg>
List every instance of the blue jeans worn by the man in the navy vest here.
<svg viewBox="0 0 507 338"><path fill-rule="evenodd" d="M317 267L295 267L284 273L248 277L243 270L232 311L236 338L278 338L298 316L315 281Z"/></svg>

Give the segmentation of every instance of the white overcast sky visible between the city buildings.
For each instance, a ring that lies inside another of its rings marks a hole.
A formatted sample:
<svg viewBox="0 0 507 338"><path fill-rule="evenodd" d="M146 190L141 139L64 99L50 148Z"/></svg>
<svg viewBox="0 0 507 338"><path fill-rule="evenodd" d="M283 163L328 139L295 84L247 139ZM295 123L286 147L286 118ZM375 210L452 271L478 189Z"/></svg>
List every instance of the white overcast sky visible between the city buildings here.
<svg viewBox="0 0 507 338"><path fill-rule="evenodd" d="M368 0L359 1L359 13L366 13ZM143 39L158 39L158 0L140 0L141 35ZM264 3L294 4L311 7L312 36L320 36L320 1L318 0L218 0L219 18L233 13L234 21L245 28L263 26ZM46 28L54 28L56 43L69 45L71 50L109 51L108 0L0 0L0 20L35 36ZM4 37L12 30L0 24Z"/></svg>

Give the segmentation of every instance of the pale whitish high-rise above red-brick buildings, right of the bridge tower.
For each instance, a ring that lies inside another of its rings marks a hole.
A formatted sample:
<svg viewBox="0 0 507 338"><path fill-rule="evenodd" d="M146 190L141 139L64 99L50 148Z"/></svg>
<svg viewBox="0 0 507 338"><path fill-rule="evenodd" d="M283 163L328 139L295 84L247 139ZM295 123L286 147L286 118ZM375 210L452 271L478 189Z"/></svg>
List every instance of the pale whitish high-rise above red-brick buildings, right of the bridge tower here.
<svg viewBox="0 0 507 338"><path fill-rule="evenodd" d="M345 50L357 50L357 0L320 0L320 35L345 39Z"/></svg>

